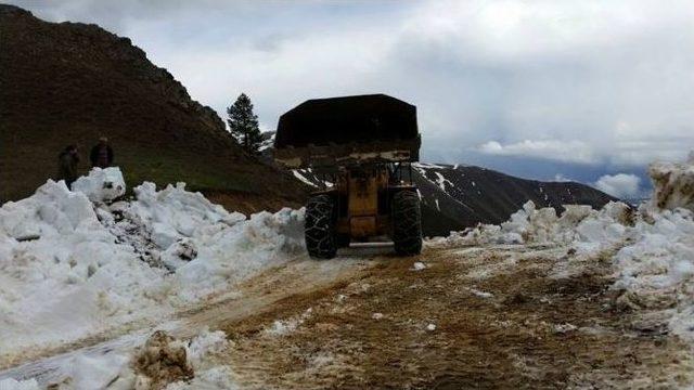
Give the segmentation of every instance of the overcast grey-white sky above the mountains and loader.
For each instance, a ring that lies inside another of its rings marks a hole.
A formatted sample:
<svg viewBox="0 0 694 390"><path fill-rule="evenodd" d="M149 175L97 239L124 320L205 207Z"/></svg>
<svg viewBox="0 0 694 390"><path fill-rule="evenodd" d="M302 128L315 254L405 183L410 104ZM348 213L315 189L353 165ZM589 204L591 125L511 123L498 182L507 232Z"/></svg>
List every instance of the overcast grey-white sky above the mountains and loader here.
<svg viewBox="0 0 694 390"><path fill-rule="evenodd" d="M692 1L10 1L127 36L190 94L264 129L304 100L417 106L423 158L617 196L694 148Z"/></svg>

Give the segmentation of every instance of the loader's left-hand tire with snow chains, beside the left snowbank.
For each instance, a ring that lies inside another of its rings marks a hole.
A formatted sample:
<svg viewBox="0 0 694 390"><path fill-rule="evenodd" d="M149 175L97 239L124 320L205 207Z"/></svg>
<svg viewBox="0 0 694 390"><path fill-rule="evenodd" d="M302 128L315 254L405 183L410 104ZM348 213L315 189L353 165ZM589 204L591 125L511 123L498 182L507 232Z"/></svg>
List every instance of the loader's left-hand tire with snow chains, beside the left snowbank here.
<svg viewBox="0 0 694 390"><path fill-rule="evenodd" d="M335 204L327 195L314 195L306 204L304 234L306 249L316 259L332 259L337 253Z"/></svg>

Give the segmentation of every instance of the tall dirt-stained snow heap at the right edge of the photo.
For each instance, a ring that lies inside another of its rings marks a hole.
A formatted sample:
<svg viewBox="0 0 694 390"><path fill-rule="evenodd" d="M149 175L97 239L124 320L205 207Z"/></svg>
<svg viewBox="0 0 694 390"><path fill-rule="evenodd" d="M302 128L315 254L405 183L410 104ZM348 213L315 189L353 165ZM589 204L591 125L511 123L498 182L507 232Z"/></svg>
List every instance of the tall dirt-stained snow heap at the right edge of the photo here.
<svg viewBox="0 0 694 390"><path fill-rule="evenodd" d="M613 258L614 287L632 309L669 312L669 328L694 341L694 154L685 164L654 162L648 173L653 198Z"/></svg>

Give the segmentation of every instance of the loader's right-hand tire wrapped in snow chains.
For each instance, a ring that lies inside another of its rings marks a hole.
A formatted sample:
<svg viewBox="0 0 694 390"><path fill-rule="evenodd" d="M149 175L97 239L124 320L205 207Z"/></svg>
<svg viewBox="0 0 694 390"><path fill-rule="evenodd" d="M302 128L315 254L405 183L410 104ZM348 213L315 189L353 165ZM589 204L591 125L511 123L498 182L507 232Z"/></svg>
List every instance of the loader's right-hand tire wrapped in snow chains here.
<svg viewBox="0 0 694 390"><path fill-rule="evenodd" d="M393 244L400 256L422 252L422 210L414 192L401 191L393 196Z"/></svg>

